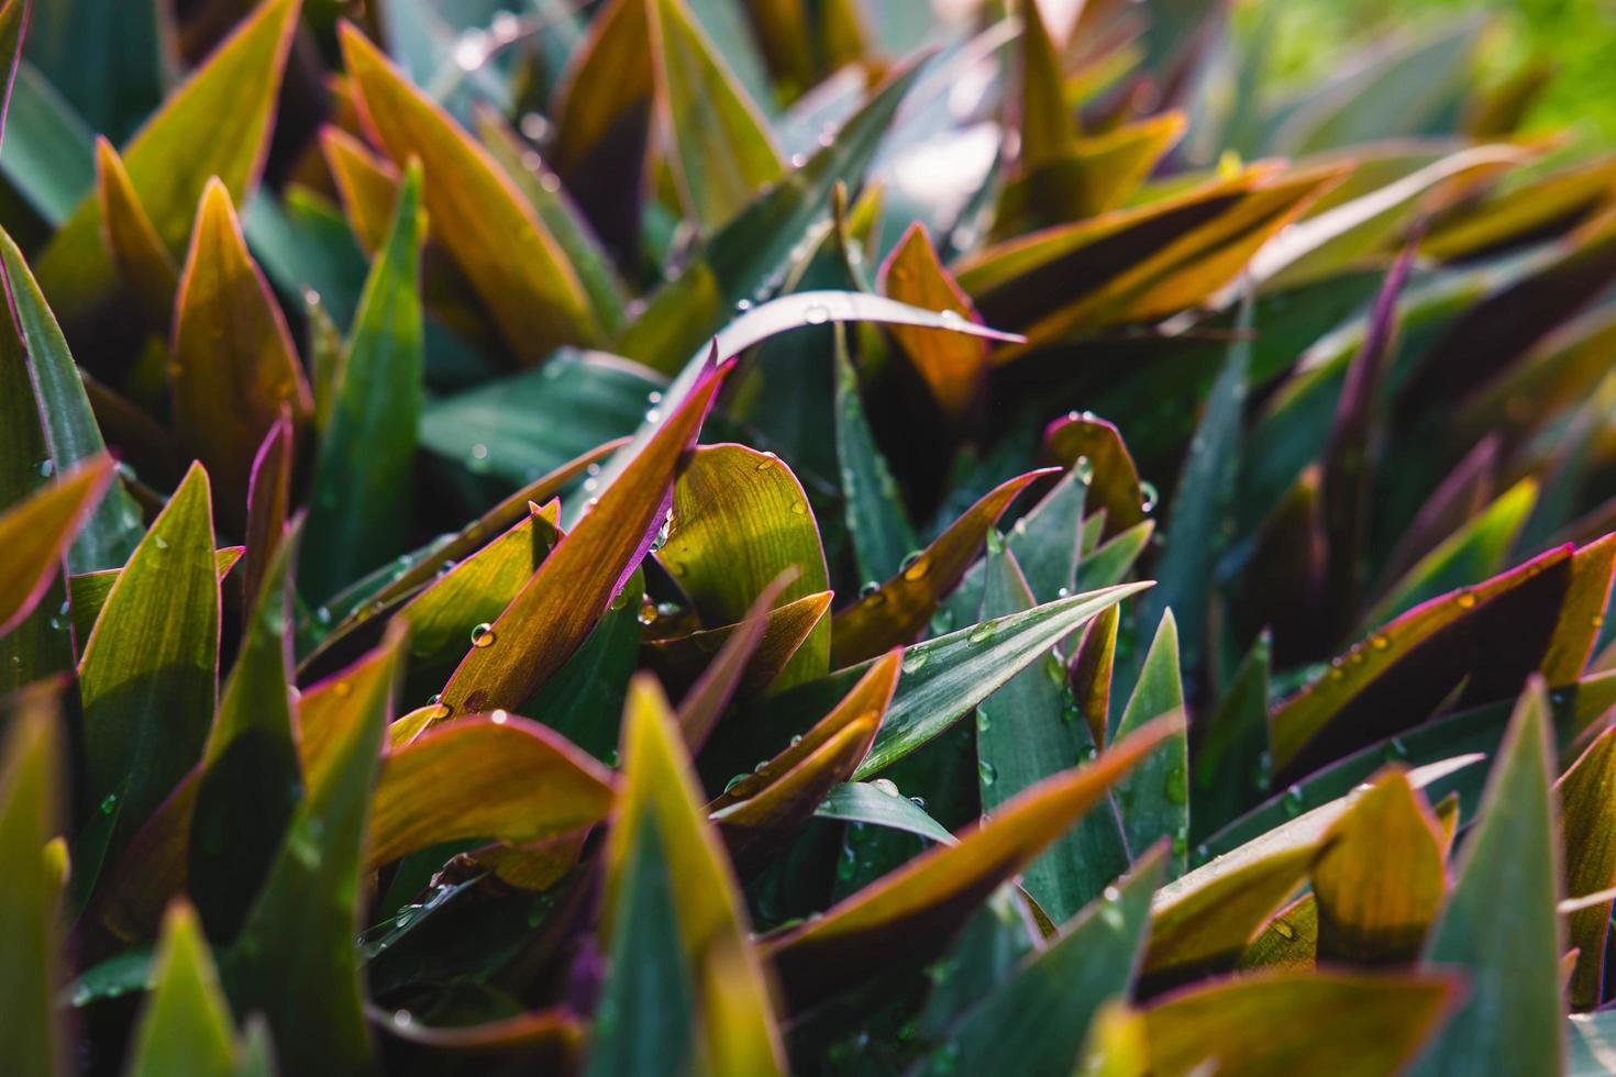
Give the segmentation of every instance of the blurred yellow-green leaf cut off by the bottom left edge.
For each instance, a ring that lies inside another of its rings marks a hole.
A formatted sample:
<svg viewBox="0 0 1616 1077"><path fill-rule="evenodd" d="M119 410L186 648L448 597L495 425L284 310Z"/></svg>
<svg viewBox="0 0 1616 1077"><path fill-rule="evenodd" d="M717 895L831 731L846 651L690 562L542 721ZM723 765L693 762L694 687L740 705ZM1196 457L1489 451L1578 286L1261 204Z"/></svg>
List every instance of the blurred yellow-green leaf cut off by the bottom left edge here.
<svg viewBox="0 0 1616 1077"><path fill-rule="evenodd" d="M13 696L0 752L0 1056L19 1074L66 1074L55 1003L60 877L44 856L57 835L63 757L55 688Z"/></svg>

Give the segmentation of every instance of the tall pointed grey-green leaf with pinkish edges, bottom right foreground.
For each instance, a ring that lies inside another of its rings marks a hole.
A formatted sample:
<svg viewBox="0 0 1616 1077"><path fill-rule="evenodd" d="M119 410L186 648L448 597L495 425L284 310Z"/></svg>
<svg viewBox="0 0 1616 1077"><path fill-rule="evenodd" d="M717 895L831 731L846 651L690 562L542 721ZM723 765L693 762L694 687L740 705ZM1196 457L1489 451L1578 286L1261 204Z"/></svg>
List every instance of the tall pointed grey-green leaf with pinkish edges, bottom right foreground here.
<svg viewBox="0 0 1616 1077"><path fill-rule="evenodd" d="M1548 696L1542 678L1532 678L1493 764L1453 896L1425 943L1425 961L1469 974L1469 993L1417 1074L1561 1071L1564 946L1555 911L1561 878L1551 751Z"/></svg>

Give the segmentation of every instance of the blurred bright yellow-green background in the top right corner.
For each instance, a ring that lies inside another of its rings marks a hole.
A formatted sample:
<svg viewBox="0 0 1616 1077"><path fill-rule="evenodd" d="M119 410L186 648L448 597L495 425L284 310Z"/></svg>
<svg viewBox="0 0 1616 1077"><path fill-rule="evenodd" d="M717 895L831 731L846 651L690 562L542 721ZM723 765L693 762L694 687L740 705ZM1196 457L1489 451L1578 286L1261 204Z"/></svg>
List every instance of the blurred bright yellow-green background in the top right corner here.
<svg viewBox="0 0 1616 1077"><path fill-rule="evenodd" d="M1302 84L1330 71L1345 50L1412 37L1485 13L1482 65L1504 79L1530 65L1553 78L1529 113L1532 129L1572 128L1582 144L1616 139L1616 0L1249 0L1236 32L1256 40L1269 78Z"/></svg>

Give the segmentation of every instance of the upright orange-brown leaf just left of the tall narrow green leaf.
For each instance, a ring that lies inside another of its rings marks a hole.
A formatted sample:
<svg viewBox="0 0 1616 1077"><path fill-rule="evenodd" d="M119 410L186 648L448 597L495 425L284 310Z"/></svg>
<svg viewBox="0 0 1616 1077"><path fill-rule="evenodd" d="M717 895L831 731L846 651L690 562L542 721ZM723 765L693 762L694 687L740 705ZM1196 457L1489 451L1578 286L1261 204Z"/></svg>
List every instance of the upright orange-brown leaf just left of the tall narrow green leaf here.
<svg viewBox="0 0 1616 1077"><path fill-rule="evenodd" d="M259 446L291 409L314 412L297 349L268 283L247 254L223 182L210 182L179 281L175 312L175 426L229 494L223 518L241 523Z"/></svg>

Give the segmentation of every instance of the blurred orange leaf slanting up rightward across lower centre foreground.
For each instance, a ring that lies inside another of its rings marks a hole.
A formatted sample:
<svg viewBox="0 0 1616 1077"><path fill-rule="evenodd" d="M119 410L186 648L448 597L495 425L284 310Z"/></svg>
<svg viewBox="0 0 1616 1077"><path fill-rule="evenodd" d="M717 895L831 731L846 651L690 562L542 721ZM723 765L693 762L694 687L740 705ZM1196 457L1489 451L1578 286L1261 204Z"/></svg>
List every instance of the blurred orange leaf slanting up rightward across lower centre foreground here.
<svg viewBox="0 0 1616 1077"><path fill-rule="evenodd" d="M1004 811L937 846L829 909L823 917L766 940L766 953L793 1004L895 964L937 953L974 907L1076 822L1173 730L1175 720L1139 730L1086 767L1033 786Z"/></svg>

